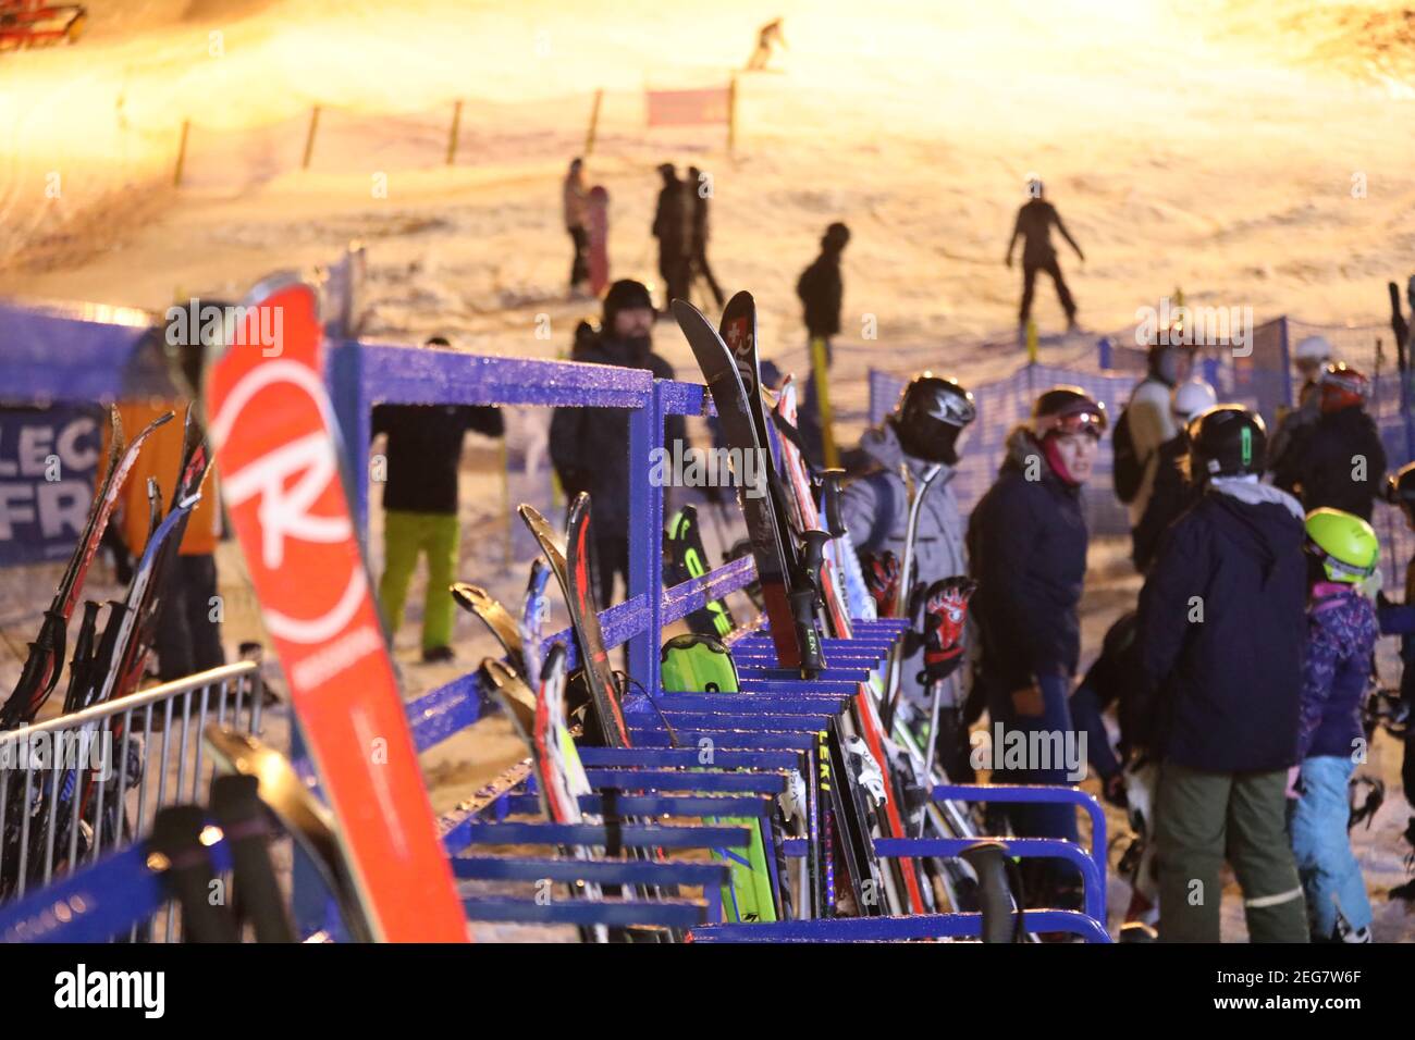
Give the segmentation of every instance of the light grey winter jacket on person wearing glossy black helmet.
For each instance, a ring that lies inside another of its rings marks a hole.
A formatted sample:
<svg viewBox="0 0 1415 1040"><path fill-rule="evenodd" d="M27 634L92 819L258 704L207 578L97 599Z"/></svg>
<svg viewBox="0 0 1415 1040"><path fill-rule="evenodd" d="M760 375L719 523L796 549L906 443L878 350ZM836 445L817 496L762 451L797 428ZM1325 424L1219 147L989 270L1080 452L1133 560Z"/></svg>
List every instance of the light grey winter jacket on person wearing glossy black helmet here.
<svg viewBox="0 0 1415 1040"><path fill-rule="evenodd" d="M877 467L874 471L846 485L841 494L841 518L859 552L894 552L904 559L904 533L908 528L908 498L899 466L908 466L914 480L921 481L928 463L904 454L894 424L884 422L867 430L860 439L860 451ZM920 505L918 531L914 539L914 566L918 582L932 584L941 577L968 573L968 553L964 548L964 521L958 499L948 487L949 471L934 481ZM900 689L904 696L923 700L924 689L917 679L924 666L924 651L904 662ZM957 676L948 681L944 700L955 703Z"/></svg>

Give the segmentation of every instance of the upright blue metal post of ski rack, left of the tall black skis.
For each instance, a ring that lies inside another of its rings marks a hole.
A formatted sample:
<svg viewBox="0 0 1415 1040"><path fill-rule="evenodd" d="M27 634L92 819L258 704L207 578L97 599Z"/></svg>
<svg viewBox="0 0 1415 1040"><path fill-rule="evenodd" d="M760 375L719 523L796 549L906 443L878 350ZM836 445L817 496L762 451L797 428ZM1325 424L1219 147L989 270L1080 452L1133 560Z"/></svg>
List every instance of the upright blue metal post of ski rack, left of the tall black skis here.
<svg viewBox="0 0 1415 1040"><path fill-rule="evenodd" d="M628 674L658 696L658 640L664 616L664 494L649 484L649 458L664 447L662 383L628 417L628 599L642 596L648 623L628 641ZM603 608L607 604L600 604Z"/></svg>

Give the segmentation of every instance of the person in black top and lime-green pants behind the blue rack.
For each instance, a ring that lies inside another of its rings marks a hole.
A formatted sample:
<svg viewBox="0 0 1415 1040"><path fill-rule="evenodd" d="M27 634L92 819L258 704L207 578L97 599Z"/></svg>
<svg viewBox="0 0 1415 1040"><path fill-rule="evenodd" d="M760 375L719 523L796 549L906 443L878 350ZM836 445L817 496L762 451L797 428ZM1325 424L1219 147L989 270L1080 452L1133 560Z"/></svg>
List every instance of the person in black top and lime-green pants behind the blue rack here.
<svg viewBox="0 0 1415 1040"><path fill-rule="evenodd" d="M429 345L446 347L433 338ZM378 405L374 434L388 434L383 484L383 577L378 601L391 632L403 621L408 583L417 557L427 557L423 603L423 661L451 661L453 600L447 591L457 569L457 468L467 430L488 437L504 433L501 412L467 405Z"/></svg>

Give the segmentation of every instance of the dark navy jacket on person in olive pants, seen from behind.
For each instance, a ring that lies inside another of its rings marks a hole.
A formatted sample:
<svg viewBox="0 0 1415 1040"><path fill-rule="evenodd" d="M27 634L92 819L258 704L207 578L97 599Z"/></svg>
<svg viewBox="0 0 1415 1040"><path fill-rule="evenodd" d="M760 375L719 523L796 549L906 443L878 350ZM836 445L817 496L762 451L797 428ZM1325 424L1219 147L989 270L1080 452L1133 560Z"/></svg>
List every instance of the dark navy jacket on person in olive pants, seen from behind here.
<svg viewBox="0 0 1415 1040"><path fill-rule="evenodd" d="M1159 545L1140 590L1140 666L1156 750L1193 770L1296 761L1306 632L1302 507L1215 480Z"/></svg>

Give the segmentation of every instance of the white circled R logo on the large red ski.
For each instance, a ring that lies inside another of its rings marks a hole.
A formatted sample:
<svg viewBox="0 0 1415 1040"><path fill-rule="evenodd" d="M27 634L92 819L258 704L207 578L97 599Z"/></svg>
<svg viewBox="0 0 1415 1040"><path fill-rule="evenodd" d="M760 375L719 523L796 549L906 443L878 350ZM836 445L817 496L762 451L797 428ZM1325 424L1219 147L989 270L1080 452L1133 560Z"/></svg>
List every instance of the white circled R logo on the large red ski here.
<svg viewBox="0 0 1415 1040"><path fill-rule="evenodd" d="M303 400L291 406L290 395ZM284 398L284 400L280 400ZM282 408L291 415L323 422L310 422L310 433L266 451L226 475L225 495L232 509L241 509L258 499L260 514L260 552L250 560L252 567L280 570L287 557L297 557L306 573L318 573L321 582L308 583L291 591L301 611L286 613L266 607L265 618L270 634L290 642L317 645L341 635L338 644L293 665L304 672L297 682L318 685L348 668L358 658L382 647L376 631L365 627L348 631L364 604L368 582L362 560L350 550L354 528L342 509L328 515L316 512L318 504L334 498L342 502L338 460L325 432L333 426L324 385L306 365L294 361L267 361L253 366L231 391L212 424L218 443L226 443L232 426L246 408ZM323 590L337 589L333 601Z"/></svg>

